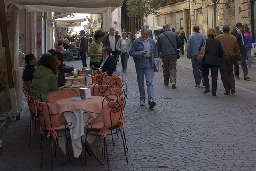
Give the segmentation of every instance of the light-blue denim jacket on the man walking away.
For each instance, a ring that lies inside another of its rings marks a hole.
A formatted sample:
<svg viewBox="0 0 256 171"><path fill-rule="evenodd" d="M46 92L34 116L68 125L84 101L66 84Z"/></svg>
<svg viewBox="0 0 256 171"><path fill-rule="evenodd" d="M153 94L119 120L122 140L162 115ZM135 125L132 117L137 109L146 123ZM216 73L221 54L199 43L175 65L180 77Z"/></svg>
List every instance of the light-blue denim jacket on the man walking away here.
<svg viewBox="0 0 256 171"><path fill-rule="evenodd" d="M200 32L194 32L193 35L190 35L188 38L187 44L187 57L196 56L199 52L198 48L206 36Z"/></svg>

